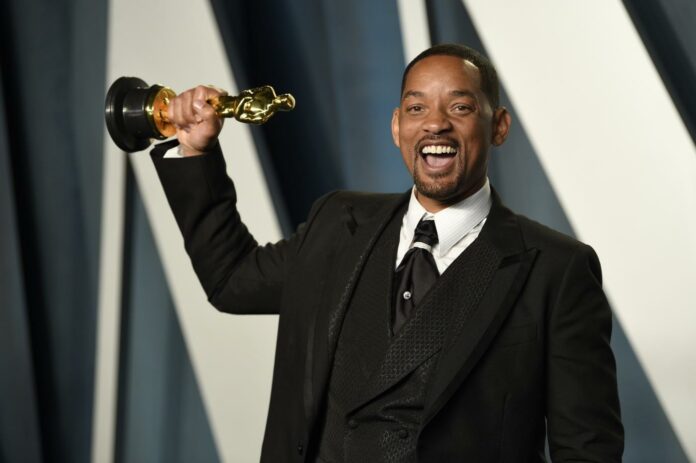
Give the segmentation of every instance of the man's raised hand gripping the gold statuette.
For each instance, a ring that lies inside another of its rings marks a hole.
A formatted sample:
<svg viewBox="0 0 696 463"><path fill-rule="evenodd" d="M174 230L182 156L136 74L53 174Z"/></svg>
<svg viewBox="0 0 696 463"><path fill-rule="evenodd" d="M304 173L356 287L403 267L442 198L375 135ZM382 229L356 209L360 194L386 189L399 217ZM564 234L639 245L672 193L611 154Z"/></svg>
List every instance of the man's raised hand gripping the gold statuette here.
<svg viewBox="0 0 696 463"><path fill-rule="evenodd" d="M217 142L224 119L218 117L207 100L220 95L226 93L199 85L169 102L169 121L176 127L176 137L184 156L203 154Z"/></svg>

